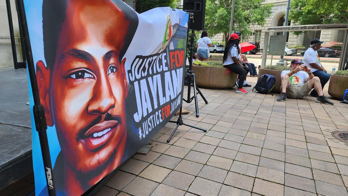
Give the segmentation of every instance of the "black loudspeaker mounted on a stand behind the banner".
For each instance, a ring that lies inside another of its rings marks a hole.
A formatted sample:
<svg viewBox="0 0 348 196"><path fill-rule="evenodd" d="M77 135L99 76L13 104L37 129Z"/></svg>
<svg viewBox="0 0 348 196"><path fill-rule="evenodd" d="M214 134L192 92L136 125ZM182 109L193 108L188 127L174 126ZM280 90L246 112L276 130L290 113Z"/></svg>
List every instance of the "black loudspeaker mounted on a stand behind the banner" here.
<svg viewBox="0 0 348 196"><path fill-rule="evenodd" d="M193 21L190 22L189 29L204 31L206 0L184 0L183 10L193 13Z"/></svg>

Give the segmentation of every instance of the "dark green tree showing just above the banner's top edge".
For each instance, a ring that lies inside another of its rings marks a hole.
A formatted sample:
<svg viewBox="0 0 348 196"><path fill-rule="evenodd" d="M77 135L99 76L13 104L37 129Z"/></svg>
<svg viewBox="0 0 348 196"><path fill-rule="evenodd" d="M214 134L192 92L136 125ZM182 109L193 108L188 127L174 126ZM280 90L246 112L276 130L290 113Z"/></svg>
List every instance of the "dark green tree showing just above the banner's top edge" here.
<svg viewBox="0 0 348 196"><path fill-rule="evenodd" d="M179 0L136 0L137 13L143 13L156 7L176 8Z"/></svg>

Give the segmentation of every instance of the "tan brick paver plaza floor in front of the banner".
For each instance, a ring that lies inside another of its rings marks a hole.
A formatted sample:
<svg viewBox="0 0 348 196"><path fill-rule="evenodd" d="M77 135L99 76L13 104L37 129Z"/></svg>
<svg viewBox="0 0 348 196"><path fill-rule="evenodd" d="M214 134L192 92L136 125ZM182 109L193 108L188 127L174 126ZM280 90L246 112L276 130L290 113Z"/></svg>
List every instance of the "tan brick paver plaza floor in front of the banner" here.
<svg viewBox="0 0 348 196"><path fill-rule="evenodd" d="M184 102L183 118L208 131L179 126L166 143L175 127L168 123L148 155L130 158L97 195L348 196L348 144L331 136L347 131L348 105L309 95L277 102L279 94L245 89L201 88L209 103L198 96L196 118L194 102Z"/></svg>

